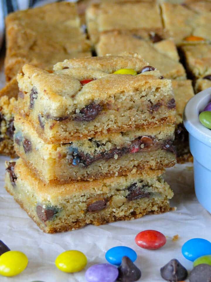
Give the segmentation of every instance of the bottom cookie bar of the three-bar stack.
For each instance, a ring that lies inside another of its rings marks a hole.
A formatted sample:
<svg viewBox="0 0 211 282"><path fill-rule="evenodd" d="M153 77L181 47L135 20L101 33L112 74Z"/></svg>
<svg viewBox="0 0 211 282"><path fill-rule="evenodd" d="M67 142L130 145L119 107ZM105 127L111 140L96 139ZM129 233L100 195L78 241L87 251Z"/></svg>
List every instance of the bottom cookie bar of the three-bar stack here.
<svg viewBox="0 0 211 282"><path fill-rule="evenodd" d="M19 159L6 163L5 188L40 229L55 233L169 211L173 192L162 173L44 186Z"/></svg>

